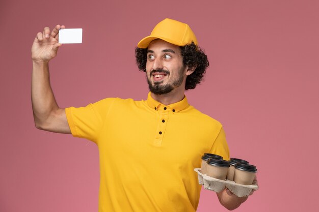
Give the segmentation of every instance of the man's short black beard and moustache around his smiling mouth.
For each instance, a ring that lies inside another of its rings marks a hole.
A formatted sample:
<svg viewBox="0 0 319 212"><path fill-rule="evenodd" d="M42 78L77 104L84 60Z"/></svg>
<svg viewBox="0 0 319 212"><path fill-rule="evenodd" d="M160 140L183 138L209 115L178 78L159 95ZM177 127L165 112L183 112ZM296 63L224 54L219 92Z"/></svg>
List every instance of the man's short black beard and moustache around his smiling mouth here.
<svg viewBox="0 0 319 212"><path fill-rule="evenodd" d="M150 72L150 77L152 77L152 74L154 72L161 72L161 73L165 73L167 75L169 75L169 73L170 73L169 71L166 71L166 70L152 70ZM166 85L162 85L162 83L163 83L162 81L161 82L154 82L154 85L152 85L152 82L148 78L147 78L147 83L148 83L148 88L149 88L151 93L153 93L155 95L163 95L163 94L170 93L174 89L174 87L180 86L183 83L183 77L182 77L182 75L179 75L177 80L173 81L171 84L166 84Z"/></svg>

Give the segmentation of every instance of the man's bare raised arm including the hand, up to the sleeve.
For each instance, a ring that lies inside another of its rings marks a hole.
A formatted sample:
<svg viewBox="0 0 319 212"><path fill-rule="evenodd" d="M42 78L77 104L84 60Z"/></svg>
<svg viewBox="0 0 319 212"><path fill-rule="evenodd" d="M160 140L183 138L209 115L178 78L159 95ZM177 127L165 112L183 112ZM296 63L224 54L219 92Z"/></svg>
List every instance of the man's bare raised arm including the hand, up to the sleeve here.
<svg viewBox="0 0 319 212"><path fill-rule="evenodd" d="M71 134L65 109L59 108L52 92L49 80L49 60L57 55L59 29L57 25L52 32L48 27L38 33L32 45L32 87L31 100L35 125L38 129Z"/></svg>

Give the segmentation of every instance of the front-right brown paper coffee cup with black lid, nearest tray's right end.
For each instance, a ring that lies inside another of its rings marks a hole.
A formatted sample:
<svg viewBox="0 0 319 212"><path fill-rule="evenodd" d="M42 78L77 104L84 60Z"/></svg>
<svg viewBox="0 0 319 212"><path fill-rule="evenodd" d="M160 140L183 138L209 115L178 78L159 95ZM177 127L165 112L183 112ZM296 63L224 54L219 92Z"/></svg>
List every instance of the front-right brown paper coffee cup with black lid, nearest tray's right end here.
<svg viewBox="0 0 319 212"><path fill-rule="evenodd" d="M256 176L257 168L254 165L237 163L234 171L234 181L236 184L252 185Z"/></svg>

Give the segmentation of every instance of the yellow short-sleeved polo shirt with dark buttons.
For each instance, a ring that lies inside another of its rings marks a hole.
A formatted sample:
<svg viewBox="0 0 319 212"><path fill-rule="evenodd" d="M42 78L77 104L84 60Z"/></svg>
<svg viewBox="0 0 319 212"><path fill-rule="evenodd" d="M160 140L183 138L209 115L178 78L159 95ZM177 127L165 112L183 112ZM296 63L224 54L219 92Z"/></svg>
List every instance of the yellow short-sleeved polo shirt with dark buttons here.
<svg viewBox="0 0 319 212"><path fill-rule="evenodd" d="M107 98L66 108L73 136L99 149L99 212L196 211L194 168L213 153L229 160L222 125L188 104Z"/></svg>

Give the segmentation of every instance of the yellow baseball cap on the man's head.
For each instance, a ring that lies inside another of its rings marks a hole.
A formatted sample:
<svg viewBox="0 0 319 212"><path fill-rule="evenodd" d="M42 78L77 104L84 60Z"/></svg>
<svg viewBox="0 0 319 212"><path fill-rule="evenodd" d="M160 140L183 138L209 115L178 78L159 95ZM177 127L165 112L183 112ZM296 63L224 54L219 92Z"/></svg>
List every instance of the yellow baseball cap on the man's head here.
<svg viewBox="0 0 319 212"><path fill-rule="evenodd" d="M138 47L147 48L149 43L155 39L162 39L177 46L184 46L192 42L198 45L195 34L188 24L169 18L157 23L151 35L143 38L138 43Z"/></svg>

